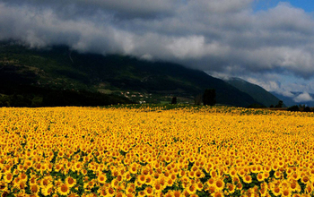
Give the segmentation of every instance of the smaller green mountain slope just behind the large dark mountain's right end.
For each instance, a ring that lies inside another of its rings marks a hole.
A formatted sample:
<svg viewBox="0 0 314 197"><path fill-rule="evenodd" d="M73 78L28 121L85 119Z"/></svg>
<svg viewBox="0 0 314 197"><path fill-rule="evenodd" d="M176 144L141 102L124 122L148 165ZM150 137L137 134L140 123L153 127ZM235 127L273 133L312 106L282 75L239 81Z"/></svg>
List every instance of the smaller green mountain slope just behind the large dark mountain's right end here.
<svg viewBox="0 0 314 197"><path fill-rule="evenodd" d="M249 94L258 103L261 103L266 107L270 107L271 105L275 106L279 102L279 99L276 98L272 93L256 84L250 83L249 81L244 81L236 77L232 77L224 81L228 82L238 90Z"/></svg>

